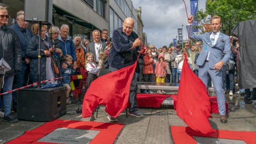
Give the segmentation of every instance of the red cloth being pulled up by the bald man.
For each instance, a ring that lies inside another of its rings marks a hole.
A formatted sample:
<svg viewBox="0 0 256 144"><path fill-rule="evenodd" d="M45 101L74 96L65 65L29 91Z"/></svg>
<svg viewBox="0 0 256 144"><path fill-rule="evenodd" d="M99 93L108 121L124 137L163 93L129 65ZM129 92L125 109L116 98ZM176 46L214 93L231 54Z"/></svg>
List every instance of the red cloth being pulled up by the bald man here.
<svg viewBox="0 0 256 144"><path fill-rule="evenodd" d="M100 104L106 107L105 111L112 117L123 112L127 107L136 64L137 62L94 80L85 93L82 117L91 117L93 110Z"/></svg>

